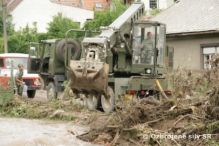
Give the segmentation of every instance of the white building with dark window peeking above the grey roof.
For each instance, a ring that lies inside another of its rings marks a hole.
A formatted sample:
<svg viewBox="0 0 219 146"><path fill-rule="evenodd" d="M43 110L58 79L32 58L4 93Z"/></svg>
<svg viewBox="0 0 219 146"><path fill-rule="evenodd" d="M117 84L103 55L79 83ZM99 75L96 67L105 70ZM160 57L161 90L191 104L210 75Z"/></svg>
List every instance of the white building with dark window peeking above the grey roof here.
<svg viewBox="0 0 219 146"><path fill-rule="evenodd" d="M145 4L145 9L166 9L173 5L175 0L141 0Z"/></svg>

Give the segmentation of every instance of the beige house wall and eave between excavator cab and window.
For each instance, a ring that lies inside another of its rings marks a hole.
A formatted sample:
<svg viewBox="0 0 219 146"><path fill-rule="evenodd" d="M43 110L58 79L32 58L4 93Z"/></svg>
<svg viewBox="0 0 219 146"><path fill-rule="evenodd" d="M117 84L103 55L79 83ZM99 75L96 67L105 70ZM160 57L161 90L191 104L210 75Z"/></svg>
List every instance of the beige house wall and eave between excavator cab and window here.
<svg viewBox="0 0 219 146"><path fill-rule="evenodd" d="M201 70L204 66L202 45L219 43L218 36L167 39L167 46L174 48L174 69Z"/></svg>

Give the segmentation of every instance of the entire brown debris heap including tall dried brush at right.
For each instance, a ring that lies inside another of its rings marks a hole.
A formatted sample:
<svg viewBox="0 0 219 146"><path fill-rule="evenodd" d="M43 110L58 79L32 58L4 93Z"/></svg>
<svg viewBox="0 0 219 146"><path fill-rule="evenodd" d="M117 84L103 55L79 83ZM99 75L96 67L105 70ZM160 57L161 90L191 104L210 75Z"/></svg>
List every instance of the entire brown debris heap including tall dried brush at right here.
<svg viewBox="0 0 219 146"><path fill-rule="evenodd" d="M110 116L91 122L78 138L104 145L219 145L219 69L178 70L172 75L173 96L120 105Z"/></svg>

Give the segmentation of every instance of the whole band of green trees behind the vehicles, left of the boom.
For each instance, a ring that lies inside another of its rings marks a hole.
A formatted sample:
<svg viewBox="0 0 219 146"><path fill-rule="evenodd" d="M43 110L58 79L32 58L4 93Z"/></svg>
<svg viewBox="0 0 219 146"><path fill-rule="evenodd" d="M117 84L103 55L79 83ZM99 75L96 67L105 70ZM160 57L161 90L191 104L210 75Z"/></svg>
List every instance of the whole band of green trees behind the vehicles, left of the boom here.
<svg viewBox="0 0 219 146"><path fill-rule="evenodd" d="M94 20L88 21L84 28L87 30L98 30L100 26L108 26L119 15L125 11L126 7L120 2L120 0L114 0L113 6L110 9L104 11L95 11ZM47 33L38 33L37 24L35 23L33 28L28 25L25 28L21 28L19 31L14 31L12 24L12 17L7 19L8 28L8 50L9 52L27 53L30 42L39 42L49 38L64 38L66 31L69 29L80 29L80 24L72 21L69 18L63 17L61 13L53 17L53 20L48 24ZM3 25L2 16L0 15L0 53L3 52ZM69 37L78 38L83 33L71 33Z"/></svg>

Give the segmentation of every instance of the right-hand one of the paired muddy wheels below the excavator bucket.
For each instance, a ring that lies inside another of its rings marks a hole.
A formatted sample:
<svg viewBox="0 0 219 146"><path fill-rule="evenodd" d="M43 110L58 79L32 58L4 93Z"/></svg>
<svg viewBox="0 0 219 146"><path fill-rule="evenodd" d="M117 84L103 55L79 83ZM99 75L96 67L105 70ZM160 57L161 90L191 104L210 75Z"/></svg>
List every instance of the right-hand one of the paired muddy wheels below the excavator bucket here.
<svg viewBox="0 0 219 146"><path fill-rule="evenodd" d="M105 113L111 113L115 108L115 94L111 87L107 88L107 95L101 95L101 105Z"/></svg>

